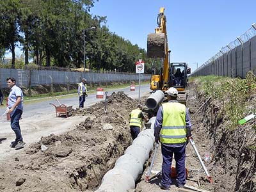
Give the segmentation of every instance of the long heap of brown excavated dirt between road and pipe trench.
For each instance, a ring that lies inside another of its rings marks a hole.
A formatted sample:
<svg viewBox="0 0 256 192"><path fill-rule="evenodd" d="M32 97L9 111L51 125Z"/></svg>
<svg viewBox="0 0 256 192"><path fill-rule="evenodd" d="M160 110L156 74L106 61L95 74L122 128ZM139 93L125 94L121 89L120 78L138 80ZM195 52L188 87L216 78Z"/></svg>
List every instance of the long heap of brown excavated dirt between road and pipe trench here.
<svg viewBox="0 0 256 192"><path fill-rule="evenodd" d="M131 145L129 112L138 101L123 92L76 114L76 129L43 137L0 168L0 191L91 191Z"/></svg>

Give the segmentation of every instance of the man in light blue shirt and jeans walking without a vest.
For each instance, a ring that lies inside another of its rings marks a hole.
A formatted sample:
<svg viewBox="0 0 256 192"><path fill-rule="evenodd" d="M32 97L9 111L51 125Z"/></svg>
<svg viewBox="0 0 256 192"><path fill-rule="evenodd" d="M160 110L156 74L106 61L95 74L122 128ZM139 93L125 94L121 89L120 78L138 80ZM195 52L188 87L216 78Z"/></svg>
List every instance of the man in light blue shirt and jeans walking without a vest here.
<svg viewBox="0 0 256 192"><path fill-rule="evenodd" d="M8 77L6 82L8 88L10 88L10 94L8 96L9 111L7 113L10 113L11 127L16 135L16 139L15 141L12 141L10 147L20 149L26 145L23 141L19 124L19 120L23 112L23 93L22 90L16 86L16 80L13 77Z"/></svg>

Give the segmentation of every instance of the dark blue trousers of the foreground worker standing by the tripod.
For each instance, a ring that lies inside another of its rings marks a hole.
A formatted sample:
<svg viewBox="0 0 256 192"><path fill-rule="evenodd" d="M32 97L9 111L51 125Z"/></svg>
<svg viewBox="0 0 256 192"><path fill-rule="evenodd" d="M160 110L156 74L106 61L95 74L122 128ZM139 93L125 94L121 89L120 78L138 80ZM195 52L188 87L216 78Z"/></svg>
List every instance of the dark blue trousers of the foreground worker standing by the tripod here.
<svg viewBox="0 0 256 192"><path fill-rule="evenodd" d="M161 184L168 188L172 184L171 180L171 167L172 167L172 155L174 153L174 159L176 161L177 172L177 186L184 186L186 183L186 168L185 168L185 155L186 144L182 147L170 147L168 145L161 145L163 164L162 164L162 180Z"/></svg>

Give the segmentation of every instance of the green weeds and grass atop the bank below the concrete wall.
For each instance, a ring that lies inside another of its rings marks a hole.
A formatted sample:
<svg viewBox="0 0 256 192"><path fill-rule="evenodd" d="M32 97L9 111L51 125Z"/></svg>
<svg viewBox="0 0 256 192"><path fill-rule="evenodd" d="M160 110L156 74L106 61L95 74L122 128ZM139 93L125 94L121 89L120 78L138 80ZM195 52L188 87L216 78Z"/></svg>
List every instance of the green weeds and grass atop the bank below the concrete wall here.
<svg viewBox="0 0 256 192"><path fill-rule="evenodd" d="M205 76L191 79L198 84L198 88L206 97L212 97L222 104L223 114L233 129L237 122L248 114L246 103L255 92L256 79L252 71L248 72L246 79Z"/></svg>

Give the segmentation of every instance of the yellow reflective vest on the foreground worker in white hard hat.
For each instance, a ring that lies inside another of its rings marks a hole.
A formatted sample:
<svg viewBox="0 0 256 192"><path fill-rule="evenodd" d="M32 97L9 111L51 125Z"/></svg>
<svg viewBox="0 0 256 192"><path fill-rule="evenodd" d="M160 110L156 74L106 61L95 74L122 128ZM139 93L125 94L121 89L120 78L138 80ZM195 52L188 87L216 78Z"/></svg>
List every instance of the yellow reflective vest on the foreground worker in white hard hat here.
<svg viewBox="0 0 256 192"><path fill-rule="evenodd" d="M167 102L163 106L161 143L186 143L186 106L179 102Z"/></svg>

